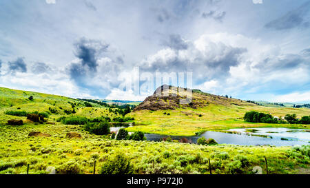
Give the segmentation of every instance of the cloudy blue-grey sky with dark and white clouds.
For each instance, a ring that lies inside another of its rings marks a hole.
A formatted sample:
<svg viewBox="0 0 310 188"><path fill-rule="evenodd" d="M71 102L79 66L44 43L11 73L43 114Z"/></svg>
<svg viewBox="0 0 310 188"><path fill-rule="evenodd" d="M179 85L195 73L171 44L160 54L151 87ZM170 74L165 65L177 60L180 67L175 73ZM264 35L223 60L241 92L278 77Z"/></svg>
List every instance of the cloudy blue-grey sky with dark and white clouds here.
<svg viewBox="0 0 310 188"><path fill-rule="evenodd" d="M165 82L144 87L141 74L156 72L192 72L211 94L309 103L310 1L0 1L0 87L143 101Z"/></svg>

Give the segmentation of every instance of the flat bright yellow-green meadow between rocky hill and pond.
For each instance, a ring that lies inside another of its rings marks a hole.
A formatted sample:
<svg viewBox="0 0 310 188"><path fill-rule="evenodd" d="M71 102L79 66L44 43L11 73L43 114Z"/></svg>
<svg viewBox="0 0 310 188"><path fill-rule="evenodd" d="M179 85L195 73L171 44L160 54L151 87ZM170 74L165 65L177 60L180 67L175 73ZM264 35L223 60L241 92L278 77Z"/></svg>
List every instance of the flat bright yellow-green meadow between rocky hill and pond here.
<svg viewBox="0 0 310 188"><path fill-rule="evenodd" d="M194 136L205 131L223 131L232 128L287 127L310 129L310 125L248 123L243 120L246 112L271 113L273 116L284 117L286 114L297 114L298 117L309 116L308 108L264 107L214 105L198 109L185 108L175 110L138 111L129 116L134 117L136 126L128 127L129 132L138 130L150 134L167 134L174 136ZM167 115L167 114L170 115Z"/></svg>

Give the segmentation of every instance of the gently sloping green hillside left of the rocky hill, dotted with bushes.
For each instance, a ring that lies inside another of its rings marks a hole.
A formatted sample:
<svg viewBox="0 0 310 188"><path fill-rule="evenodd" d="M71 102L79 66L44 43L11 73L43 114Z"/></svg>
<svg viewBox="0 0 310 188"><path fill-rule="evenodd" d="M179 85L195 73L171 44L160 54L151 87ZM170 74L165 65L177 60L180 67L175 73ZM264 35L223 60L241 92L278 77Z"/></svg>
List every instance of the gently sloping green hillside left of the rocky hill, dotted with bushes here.
<svg viewBox="0 0 310 188"><path fill-rule="evenodd" d="M32 96L33 99L28 98ZM21 90L12 90L0 87L0 123L6 124L9 119L16 118L4 114L6 111L26 111L26 112L46 112L49 114L48 121L50 123L57 123L56 119L61 116L85 116L87 118L94 118L99 116L110 116L114 118L118 116L113 112L109 112L107 107L103 107L96 103L91 103L92 107L86 107L85 101L68 98L65 96L56 96L52 94L42 94L37 92L26 92ZM52 113L50 109L56 110ZM76 113L69 113L72 112ZM19 117L26 121L26 117Z"/></svg>

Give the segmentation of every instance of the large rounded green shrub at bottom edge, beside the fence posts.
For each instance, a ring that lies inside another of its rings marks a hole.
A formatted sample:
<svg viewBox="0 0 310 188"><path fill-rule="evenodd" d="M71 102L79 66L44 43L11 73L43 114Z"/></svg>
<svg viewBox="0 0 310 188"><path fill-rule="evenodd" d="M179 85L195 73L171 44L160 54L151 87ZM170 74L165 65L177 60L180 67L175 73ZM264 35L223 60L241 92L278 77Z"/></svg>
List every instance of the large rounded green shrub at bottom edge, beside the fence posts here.
<svg viewBox="0 0 310 188"><path fill-rule="evenodd" d="M118 154L114 158L107 160L101 167L100 174L132 174L133 167L130 160L123 154Z"/></svg>

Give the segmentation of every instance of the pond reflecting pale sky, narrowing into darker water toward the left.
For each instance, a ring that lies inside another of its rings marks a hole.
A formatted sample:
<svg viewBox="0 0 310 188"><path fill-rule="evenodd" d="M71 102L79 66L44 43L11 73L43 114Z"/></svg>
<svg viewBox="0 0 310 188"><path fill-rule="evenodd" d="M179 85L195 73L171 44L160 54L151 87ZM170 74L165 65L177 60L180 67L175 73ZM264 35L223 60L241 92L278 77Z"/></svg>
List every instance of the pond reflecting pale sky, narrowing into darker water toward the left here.
<svg viewBox="0 0 310 188"><path fill-rule="evenodd" d="M239 134L229 134L223 132L205 132L200 136L167 136L160 134L145 134L147 140L161 141L161 138L171 137L173 140L187 138L190 143L197 143L198 138L214 138L219 144L232 145L275 145L275 146L293 146L310 145L310 132L304 129L286 129L286 128L257 128L257 131L251 133L245 132L246 129L230 129L229 131ZM307 132L308 131L308 132ZM265 135L268 138L259 136L249 136L248 134Z"/></svg>

